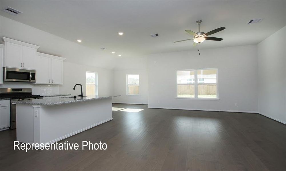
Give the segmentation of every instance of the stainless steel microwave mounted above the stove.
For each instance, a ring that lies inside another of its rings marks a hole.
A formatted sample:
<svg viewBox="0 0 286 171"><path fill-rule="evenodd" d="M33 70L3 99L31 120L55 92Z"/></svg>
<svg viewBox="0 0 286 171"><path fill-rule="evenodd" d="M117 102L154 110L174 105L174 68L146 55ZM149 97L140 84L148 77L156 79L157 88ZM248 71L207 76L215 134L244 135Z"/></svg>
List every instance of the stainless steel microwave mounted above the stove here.
<svg viewBox="0 0 286 171"><path fill-rule="evenodd" d="M3 81L35 82L36 71L29 69L3 68Z"/></svg>

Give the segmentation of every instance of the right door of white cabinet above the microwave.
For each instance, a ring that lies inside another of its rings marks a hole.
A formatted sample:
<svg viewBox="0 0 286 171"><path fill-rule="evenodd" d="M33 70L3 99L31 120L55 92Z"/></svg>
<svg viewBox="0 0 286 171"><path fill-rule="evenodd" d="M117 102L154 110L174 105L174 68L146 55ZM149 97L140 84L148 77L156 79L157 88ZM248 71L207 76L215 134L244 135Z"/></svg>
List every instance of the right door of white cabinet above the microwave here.
<svg viewBox="0 0 286 171"><path fill-rule="evenodd" d="M23 68L35 69L36 49L22 46Z"/></svg>

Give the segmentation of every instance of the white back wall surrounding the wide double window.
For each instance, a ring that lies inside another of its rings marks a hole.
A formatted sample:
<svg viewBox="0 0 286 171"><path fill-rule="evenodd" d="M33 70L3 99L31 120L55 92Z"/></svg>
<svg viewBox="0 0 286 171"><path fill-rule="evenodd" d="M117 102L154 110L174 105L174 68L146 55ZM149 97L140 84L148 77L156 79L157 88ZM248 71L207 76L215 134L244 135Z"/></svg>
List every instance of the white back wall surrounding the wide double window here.
<svg viewBox="0 0 286 171"><path fill-rule="evenodd" d="M200 53L193 50L148 56L149 107L257 112L257 45L204 49ZM203 68L219 69L220 100L176 99L175 71Z"/></svg>

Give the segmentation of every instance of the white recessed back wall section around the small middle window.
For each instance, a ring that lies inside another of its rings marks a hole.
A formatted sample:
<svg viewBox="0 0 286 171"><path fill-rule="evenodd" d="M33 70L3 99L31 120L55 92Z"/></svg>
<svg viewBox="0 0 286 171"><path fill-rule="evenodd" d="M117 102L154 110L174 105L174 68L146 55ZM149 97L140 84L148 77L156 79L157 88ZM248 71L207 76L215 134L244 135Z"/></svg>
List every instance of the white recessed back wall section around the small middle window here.
<svg viewBox="0 0 286 171"><path fill-rule="evenodd" d="M139 96L126 95L126 74L139 74ZM146 69L114 70L113 93L120 97L113 98L114 103L148 104L148 72Z"/></svg>

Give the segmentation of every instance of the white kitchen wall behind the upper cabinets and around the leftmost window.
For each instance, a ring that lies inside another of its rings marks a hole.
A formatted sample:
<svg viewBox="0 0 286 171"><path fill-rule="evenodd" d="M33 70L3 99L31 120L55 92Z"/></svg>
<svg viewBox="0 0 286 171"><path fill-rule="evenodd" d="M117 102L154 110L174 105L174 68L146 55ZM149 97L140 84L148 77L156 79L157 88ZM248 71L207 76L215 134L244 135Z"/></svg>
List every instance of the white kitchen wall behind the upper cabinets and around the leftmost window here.
<svg viewBox="0 0 286 171"><path fill-rule="evenodd" d="M3 16L0 17L0 22L1 41L2 37L24 41L41 46L37 50L39 52L66 58L64 61L64 85L33 85L32 83L23 82L4 82L3 85L0 85L1 87L32 87L33 94L73 94L75 93L75 90L73 90L74 85L81 83L84 86L85 94L85 72L94 71L99 73L99 93L112 93L112 70L96 67L107 67L108 64L112 64L109 58L96 56L97 52L91 48ZM89 63L90 65L80 65L81 63ZM80 93L78 88L76 93Z"/></svg>

